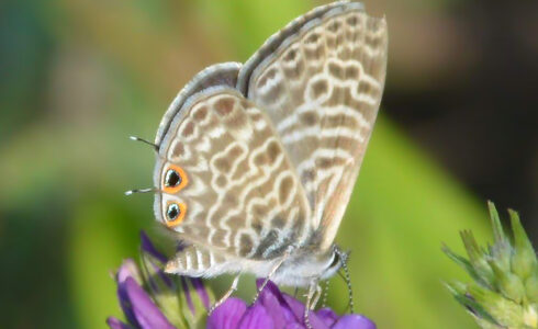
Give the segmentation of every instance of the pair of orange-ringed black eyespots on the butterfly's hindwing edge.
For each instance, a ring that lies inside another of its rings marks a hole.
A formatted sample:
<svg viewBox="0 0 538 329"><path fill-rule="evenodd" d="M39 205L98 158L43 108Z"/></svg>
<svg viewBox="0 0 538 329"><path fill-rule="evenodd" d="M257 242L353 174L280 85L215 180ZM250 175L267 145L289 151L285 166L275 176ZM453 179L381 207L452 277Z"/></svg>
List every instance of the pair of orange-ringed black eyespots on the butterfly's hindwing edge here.
<svg viewBox="0 0 538 329"><path fill-rule="evenodd" d="M181 167L165 163L159 166L155 181L161 191L155 195L155 215L167 227L175 229L187 215L187 204L181 201L179 195L189 184L189 178Z"/></svg>

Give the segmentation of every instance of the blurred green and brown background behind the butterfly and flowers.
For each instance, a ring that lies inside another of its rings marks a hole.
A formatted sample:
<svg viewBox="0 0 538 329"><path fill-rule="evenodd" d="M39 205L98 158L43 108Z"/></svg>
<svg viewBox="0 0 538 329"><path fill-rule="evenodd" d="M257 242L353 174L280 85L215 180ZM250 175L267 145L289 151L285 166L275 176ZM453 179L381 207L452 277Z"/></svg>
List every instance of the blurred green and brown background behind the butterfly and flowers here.
<svg viewBox="0 0 538 329"><path fill-rule="evenodd" d="M386 15L381 114L338 235L357 309L380 328L473 328L441 281L458 231L490 238L485 200L538 238L538 2L365 0ZM157 239L153 139L202 68L245 61L324 1L0 2L0 327L102 328L110 276ZM220 292L226 279L212 282ZM245 280L239 294L251 296ZM330 305L347 293L335 279Z"/></svg>

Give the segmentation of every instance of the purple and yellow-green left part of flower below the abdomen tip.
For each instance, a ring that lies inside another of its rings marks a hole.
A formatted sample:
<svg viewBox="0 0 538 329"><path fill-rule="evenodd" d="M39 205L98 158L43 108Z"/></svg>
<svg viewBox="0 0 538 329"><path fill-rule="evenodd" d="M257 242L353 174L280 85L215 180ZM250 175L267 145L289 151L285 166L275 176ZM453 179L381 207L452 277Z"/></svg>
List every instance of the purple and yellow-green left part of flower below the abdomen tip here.
<svg viewBox="0 0 538 329"><path fill-rule="evenodd" d="M200 279L168 275L162 271L166 257L141 234L141 266L127 259L115 280L125 322L110 317L107 324L120 328L192 328L206 318L213 302Z"/></svg>

